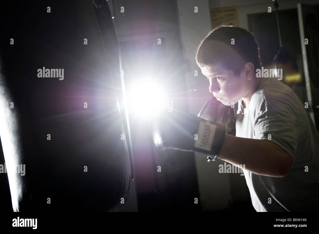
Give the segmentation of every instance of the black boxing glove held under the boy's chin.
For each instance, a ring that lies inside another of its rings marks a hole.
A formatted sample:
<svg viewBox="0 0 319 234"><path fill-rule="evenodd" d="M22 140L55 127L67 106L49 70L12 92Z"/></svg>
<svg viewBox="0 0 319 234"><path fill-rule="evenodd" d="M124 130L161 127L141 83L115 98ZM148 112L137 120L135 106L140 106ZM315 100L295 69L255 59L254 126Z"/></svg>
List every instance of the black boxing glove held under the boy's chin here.
<svg viewBox="0 0 319 234"><path fill-rule="evenodd" d="M237 108L238 103L235 103L232 108L219 102L216 97L211 97L199 112L198 117L222 124L226 128L226 134L236 136L235 110Z"/></svg>

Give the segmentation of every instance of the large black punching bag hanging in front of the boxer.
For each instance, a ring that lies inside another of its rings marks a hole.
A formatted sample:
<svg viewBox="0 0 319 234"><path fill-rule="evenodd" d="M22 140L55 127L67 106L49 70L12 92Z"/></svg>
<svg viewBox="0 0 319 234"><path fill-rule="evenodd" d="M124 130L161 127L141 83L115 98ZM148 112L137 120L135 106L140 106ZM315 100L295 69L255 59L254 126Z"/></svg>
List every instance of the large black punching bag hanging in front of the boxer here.
<svg viewBox="0 0 319 234"><path fill-rule="evenodd" d="M13 210L119 211L132 159L107 1L0 11L0 137Z"/></svg>

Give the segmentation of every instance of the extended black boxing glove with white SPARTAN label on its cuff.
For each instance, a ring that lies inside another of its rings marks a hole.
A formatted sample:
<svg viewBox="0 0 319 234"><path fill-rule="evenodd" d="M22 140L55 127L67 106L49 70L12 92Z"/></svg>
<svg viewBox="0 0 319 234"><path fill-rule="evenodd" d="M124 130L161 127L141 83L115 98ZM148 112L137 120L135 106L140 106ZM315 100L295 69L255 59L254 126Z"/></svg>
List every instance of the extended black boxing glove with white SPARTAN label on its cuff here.
<svg viewBox="0 0 319 234"><path fill-rule="evenodd" d="M215 156L224 136L224 125L188 112L161 112L153 119L153 141L160 150L178 149Z"/></svg>

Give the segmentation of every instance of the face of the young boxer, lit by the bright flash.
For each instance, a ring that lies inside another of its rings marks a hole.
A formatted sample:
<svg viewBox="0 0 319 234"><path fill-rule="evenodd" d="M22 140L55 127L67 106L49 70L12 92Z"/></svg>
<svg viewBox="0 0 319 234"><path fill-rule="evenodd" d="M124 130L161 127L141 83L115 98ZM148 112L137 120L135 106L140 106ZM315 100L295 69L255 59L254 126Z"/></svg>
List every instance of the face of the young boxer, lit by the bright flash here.
<svg viewBox="0 0 319 234"><path fill-rule="evenodd" d="M239 77L232 70L227 71L221 66L201 67L201 70L209 80L209 91L224 105L237 103L251 91L251 78L247 77L246 66Z"/></svg>

